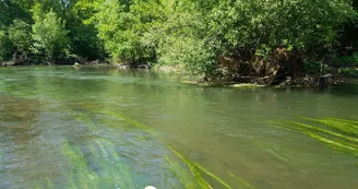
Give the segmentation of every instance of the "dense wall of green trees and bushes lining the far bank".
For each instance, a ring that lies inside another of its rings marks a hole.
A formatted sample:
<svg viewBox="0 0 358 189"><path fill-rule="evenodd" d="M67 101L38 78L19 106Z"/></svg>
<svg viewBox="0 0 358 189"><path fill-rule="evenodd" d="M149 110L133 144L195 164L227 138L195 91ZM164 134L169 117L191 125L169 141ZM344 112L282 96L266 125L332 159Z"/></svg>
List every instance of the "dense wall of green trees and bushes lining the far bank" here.
<svg viewBox="0 0 358 189"><path fill-rule="evenodd" d="M0 0L0 61L109 60L275 84L358 75L357 0Z"/></svg>

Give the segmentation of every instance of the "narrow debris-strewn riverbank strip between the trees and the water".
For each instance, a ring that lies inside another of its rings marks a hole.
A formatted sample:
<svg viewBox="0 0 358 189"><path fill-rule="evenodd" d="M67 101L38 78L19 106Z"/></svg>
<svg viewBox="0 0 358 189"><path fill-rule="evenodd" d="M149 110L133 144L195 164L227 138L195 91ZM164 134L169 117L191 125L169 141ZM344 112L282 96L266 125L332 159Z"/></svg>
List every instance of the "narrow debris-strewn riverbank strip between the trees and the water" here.
<svg viewBox="0 0 358 189"><path fill-rule="evenodd" d="M159 64L151 64L151 63L138 63L138 64L123 64L123 63L109 63L107 61L87 61L85 59L72 59L69 61L71 63L50 63L50 62L43 62L43 63L14 63L12 61L0 62L2 67L22 67L22 66L74 66L74 67L91 67L91 66L109 66L114 69L150 69L153 71L165 72L175 74L181 83L186 84L194 84L200 86L224 86L224 87L242 87L242 88L252 88L252 87L267 87L267 86L275 86L275 87L291 87L291 86L299 86L299 87L325 87L332 84L339 84L339 83L357 83L358 82L358 74L353 73L350 71L350 75L347 75L347 71L343 72L339 69L335 69L333 73L326 74L298 74L295 76L281 76L279 81L276 78L270 76L254 76L254 75L244 75L244 76L237 76L232 80L228 80L225 76L217 76L207 80L204 75L193 75L188 73L184 68L182 67L172 67L172 66L159 66ZM345 68L357 71L356 68ZM332 70L332 69L331 69ZM265 80L271 80L271 82L265 82Z"/></svg>

